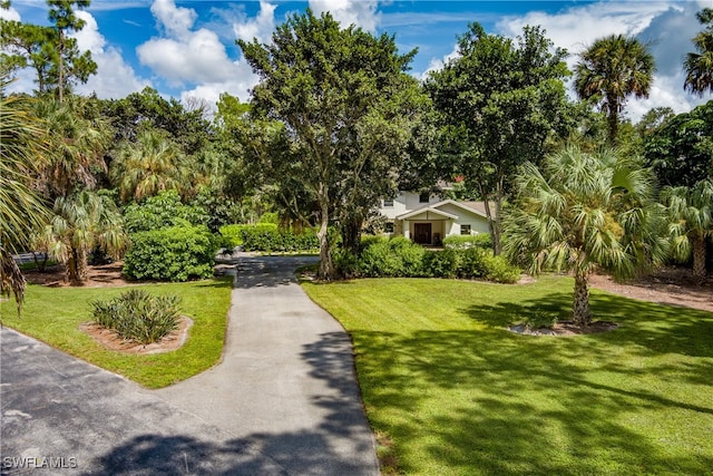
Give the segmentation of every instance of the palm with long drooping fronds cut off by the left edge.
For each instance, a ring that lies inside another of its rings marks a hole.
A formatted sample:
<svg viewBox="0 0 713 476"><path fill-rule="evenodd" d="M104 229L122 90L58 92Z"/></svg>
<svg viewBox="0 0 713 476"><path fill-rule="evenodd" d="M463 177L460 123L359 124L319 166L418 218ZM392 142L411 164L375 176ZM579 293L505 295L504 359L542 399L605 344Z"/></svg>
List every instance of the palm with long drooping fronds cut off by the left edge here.
<svg viewBox="0 0 713 476"><path fill-rule="evenodd" d="M14 294L18 312L25 276L12 254L26 251L30 235L49 213L32 188L46 154L46 129L17 97L4 95L0 78L0 292Z"/></svg>

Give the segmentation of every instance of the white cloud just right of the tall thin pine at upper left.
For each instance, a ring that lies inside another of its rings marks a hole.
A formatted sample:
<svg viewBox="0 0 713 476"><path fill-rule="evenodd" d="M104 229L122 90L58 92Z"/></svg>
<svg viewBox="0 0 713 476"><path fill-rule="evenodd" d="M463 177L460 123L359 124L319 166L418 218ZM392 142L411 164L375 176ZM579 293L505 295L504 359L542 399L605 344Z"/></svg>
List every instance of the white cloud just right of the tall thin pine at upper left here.
<svg viewBox="0 0 713 476"><path fill-rule="evenodd" d="M134 68L121 57L115 47L106 47L106 39L99 32L95 18L86 11L77 11L77 17L86 21L85 28L71 37L77 39L80 51L89 50L97 64L97 74L89 77L84 85L77 85L79 94L96 93L100 98L121 98L130 93L141 90L150 82L136 76Z"/></svg>

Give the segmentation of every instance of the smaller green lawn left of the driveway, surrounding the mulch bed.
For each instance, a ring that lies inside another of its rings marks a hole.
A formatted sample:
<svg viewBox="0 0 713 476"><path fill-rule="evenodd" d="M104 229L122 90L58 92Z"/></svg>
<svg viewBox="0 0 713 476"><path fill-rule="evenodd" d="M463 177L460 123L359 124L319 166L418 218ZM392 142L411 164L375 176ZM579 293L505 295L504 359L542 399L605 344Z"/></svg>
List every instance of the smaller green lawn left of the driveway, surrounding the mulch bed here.
<svg viewBox="0 0 713 476"><path fill-rule="evenodd" d="M105 349L79 330L79 324L91 320L90 301L114 298L129 288L29 285L20 317L13 301L1 304L2 323L148 388L187 379L218 361L231 305L231 278L140 288L153 294L182 298L183 314L194 324L180 349L153 356L125 354Z"/></svg>

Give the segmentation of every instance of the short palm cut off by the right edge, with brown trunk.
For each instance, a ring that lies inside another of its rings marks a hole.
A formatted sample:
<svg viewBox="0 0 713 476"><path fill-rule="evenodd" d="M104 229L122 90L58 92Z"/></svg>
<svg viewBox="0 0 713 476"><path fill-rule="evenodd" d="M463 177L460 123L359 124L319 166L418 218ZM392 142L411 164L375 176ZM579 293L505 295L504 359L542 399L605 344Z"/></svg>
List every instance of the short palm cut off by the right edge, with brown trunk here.
<svg viewBox="0 0 713 476"><path fill-rule="evenodd" d="M674 254L681 260L693 254L693 278L703 283L705 241L713 236L713 179L697 182L692 187L666 187L661 198L671 220Z"/></svg>

